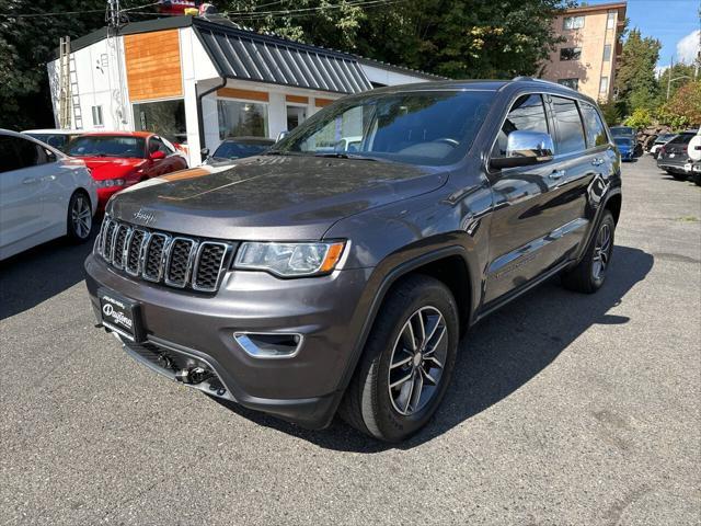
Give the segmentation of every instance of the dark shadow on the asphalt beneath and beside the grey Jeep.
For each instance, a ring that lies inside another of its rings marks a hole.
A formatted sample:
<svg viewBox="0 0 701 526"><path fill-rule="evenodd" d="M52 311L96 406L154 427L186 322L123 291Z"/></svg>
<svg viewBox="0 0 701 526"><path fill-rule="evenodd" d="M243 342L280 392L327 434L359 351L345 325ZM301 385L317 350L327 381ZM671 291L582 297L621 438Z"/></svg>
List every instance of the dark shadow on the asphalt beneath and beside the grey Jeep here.
<svg viewBox="0 0 701 526"><path fill-rule="evenodd" d="M441 408L422 432L403 444L383 444L369 438L338 418L326 430L309 431L240 405L220 403L261 425L327 449L356 453L394 447L410 449L508 397L548 367L591 325L628 323L629 318L608 311L645 278L654 258L630 247L614 250L607 283L597 294L572 293L553 279L474 327L460 342L456 370Z"/></svg>

